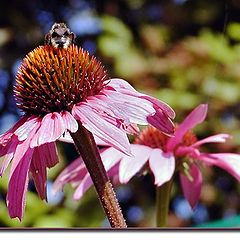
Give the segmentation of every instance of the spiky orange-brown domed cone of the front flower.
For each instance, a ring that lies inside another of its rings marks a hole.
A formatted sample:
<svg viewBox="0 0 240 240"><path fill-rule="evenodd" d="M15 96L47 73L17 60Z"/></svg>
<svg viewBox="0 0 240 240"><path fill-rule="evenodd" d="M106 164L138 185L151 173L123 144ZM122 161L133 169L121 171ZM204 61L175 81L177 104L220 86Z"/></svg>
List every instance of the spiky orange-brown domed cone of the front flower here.
<svg viewBox="0 0 240 240"><path fill-rule="evenodd" d="M82 48L45 45L23 59L14 92L17 106L26 114L44 115L71 111L75 103L98 94L105 80L101 63Z"/></svg>

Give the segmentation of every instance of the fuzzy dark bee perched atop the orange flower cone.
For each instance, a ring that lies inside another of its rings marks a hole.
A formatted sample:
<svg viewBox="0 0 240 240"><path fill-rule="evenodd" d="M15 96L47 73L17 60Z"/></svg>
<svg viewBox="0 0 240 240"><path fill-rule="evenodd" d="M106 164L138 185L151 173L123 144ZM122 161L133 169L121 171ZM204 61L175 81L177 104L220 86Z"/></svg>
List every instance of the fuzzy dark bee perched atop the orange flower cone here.
<svg viewBox="0 0 240 240"><path fill-rule="evenodd" d="M76 35L70 31L65 23L54 23L45 35L45 44L55 48L68 48L75 42Z"/></svg>

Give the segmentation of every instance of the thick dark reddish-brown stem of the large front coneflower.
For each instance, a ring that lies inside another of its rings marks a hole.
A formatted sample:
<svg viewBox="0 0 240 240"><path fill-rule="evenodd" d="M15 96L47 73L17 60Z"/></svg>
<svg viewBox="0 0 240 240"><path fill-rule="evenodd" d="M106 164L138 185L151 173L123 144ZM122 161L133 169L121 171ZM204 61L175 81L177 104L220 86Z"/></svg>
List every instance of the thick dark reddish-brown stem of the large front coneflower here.
<svg viewBox="0 0 240 240"><path fill-rule="evenodd" d="M78 122L78 131L71 133L71 137L92 178L111 227L127 227L92 133Z"/></svg>

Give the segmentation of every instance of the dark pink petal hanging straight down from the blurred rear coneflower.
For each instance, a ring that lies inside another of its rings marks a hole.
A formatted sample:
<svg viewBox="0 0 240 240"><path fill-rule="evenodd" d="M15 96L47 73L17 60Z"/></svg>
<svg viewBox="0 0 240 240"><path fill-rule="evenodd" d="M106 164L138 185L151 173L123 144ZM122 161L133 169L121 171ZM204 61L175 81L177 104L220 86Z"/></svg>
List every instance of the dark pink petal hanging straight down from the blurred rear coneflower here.
<svg viewBox="0 0 240 240"><path fill-rule="evenodd" d="M180 173L180 181L184 197L189 202L191 208L195 208L201 194L202 174L195 164L190 166L189 173L192 177L191 180Z"/></svg>

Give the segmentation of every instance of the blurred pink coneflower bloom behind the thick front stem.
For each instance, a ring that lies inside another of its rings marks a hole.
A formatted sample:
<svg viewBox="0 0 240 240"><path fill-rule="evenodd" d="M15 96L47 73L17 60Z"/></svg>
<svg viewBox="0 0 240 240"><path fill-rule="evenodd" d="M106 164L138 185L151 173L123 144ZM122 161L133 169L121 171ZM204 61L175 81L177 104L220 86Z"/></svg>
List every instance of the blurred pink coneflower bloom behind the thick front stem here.
<svg viewBox="0 0 240 240"><path fill-rule="evenodd" d="M200 147L206 143L222 143L230 136L217 134L197 140L191 132L197 124L204 121L207 105L195 108L177 127L174 137L169 137L151 126L145 128L131 144L132 156L109 147L102 150L101 156L109 177L116 182L127 183L139 171L151 172L155 185L162 186L170 181L175 171L179 171L185 198L192 208L198 202L202 174L199 166L217 166L240 181L240 155L234 153L204 153ZM58 176L54 191L63 188L66 183L77 186L74 198L79 199L92 185L84 163L77 159Z"/></svg>

